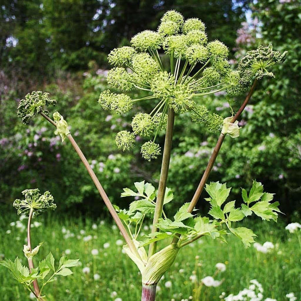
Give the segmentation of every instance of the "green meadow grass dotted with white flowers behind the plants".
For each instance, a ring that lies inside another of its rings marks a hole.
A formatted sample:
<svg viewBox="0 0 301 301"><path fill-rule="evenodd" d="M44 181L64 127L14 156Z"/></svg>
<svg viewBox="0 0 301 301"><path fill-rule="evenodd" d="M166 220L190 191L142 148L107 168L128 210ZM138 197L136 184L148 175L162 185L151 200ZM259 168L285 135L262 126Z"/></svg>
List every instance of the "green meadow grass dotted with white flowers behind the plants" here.
<svg viewBox="0 0 301 301"><path fill-rule="evenodd" d="M21 232L10 225L16 219L16 215L8 215L0 221L0 254L11 260L18 256L26 264L26 258L22 254L26 231ZM48 301L140 299L141 277L134 263L122 254L122 245L116 244L116 241L122 239L116 227L108 222L88 218L59 220L54 214L46 218L37 217L35 220L42 225L32 229L32 244L35 246L44 241L37 255L38 260L44 258L50 250L56 260L70 250L68 257L80 258L82 263L73 268L73 275L60 278L45 288ZM26 220L23 223L26 224ZM97 225L97 229L93 229L96 228L93 224ZM289 292L294 292L297 300L300 300L301 253L296 234L289 234L281 220L278 223L258 221L249 227L258 235L258 242L270 241L274 244L270 253L260 253L253 246L245 249L235 237L229 237L228 244L207 238L196 241L180 250L175 263L159 283L157 299L188 300L189 296L195 296L200 280L214 275L215 264L222 262L226 264L227 270L214 277L222 280L221 285L203 286L202 298L199 300L220 300L222 292L225 292L225 296L237 294L247 288L252 279L257 279L262 284L263 300L267 297L278 301L288 300L285 295ZM7 230L11 233L7 234ZM92 239L85 241L84 237L89 235ZM97 256L91 254L92 249L98 250ZM89 267L90 273L83 273L84 267ZM96 273L100 275L98 280L93 278ZM195 275L198 280L196 283L190 279L191 275ZM29 293L3 266L0 266L0 282L0 300L30 300Z"/></svg>

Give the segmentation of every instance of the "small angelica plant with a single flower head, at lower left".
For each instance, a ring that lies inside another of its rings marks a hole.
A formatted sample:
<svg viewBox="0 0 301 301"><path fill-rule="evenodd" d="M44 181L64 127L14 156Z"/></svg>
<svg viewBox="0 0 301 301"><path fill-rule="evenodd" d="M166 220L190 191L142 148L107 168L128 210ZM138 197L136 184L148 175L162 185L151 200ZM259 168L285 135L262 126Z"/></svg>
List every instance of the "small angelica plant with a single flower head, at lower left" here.
<svg viewBox="0 0 301 301"><path fill-rule="evenodd" d="M71 260L63 256L59 261L58 267L56 267L55 258L52 253L49 253L45 259L38 263L36 268L34 267L33 258L38 254L43 242L32 248L32 218L44 211L55 210L57 206L49 191L46 191L41 195L39 189L26 189L22 191L22 194L24 195L24 199L16 199L13 203L13 207L17 209L18 214L28 216L27 244L24 244L23 246L24 256L28 260L28 267L22 265L22 262L18 257L14 261L6 259L1 261L0 264L8 268L13 277L26 289L32 292L38 301L46 301L46 295L42 294L44 287L48 283L53 282L59 275L63 277L71 275L73 272L70 270L70 267L76 266L79 259ZM40 282L40 285L38 284L38 281Z"/></svg>

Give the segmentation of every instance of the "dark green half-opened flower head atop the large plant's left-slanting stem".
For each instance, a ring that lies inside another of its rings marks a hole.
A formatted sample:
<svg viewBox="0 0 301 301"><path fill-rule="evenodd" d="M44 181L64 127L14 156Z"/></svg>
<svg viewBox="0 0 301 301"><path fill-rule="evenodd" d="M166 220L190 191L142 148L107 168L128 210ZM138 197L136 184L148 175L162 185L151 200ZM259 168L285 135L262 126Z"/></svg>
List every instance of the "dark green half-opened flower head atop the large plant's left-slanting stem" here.
<svg viewBox="0 0 301 301"><path fill-rule="evenodd" d="M49 93L33 91L28 93L24 99L20 100L18 117L22 118L24 124L27 124L36 114L44 113L45 115L49 115L49 112L45 110L44 107L49 105L55 106L57 101L55 99L49 99L48 95Z"/></svg>

